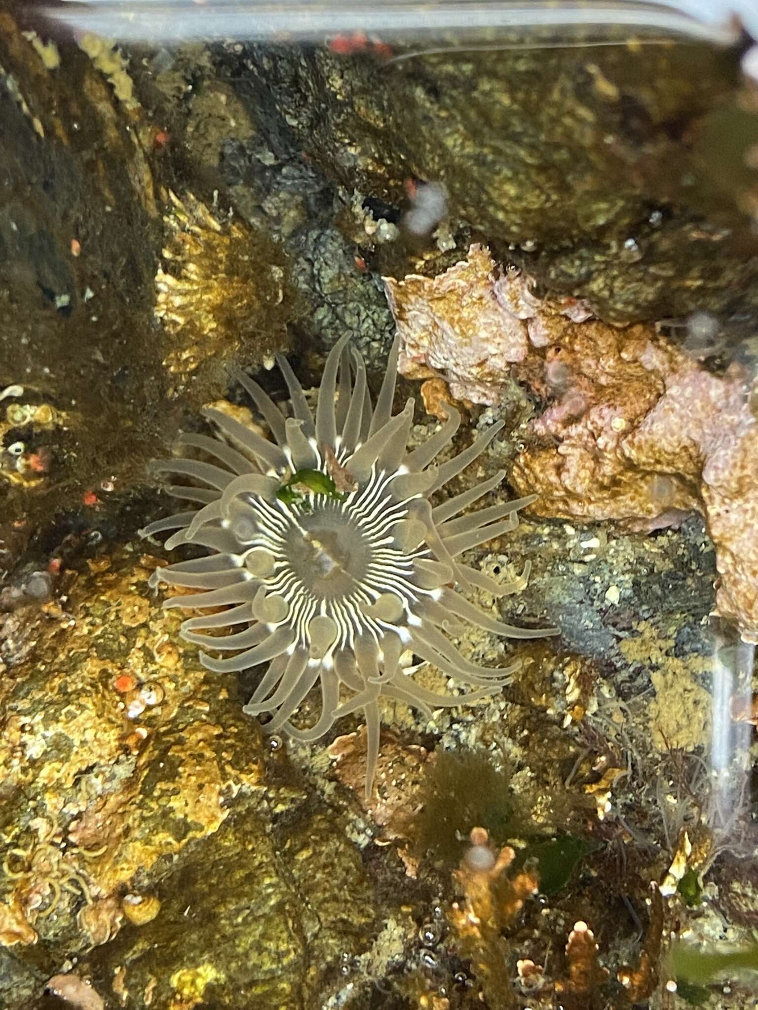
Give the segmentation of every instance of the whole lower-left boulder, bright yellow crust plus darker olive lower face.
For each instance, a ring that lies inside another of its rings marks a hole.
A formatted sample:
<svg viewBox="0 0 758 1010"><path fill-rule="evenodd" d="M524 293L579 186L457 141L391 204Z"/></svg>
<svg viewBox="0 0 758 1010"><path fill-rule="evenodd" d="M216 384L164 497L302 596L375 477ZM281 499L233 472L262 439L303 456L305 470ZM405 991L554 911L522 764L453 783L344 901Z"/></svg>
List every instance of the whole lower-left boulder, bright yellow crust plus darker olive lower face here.
<svg viewBox="0 0 758 1010"><path fill-rule="evenodd" d="M0 678L3 1005L39 996L72 955L106 1005L320 1005L374 932L360 854L293 773L267 773L227 682L174 644L153 565L90 563L61 607L16 615L26 654Z"/></svg>

